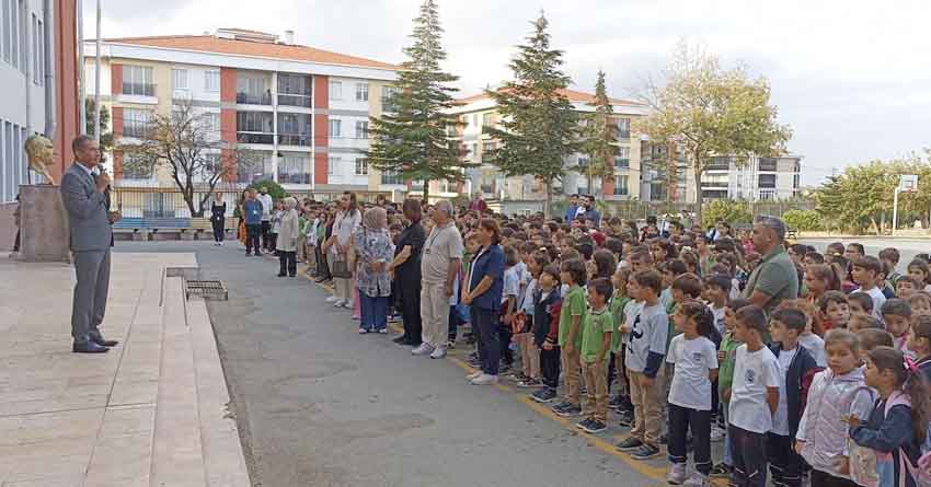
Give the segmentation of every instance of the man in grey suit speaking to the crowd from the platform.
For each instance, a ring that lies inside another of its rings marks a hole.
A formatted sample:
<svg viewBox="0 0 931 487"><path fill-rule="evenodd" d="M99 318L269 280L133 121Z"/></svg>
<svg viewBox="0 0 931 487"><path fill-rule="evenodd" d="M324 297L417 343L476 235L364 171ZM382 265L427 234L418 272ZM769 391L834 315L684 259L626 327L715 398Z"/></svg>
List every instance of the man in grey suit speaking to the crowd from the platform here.
<svg viewBox="0 0 931 487"><path fill-rule="evenodd" d="M76 162L61 177L61 199L68 210L71 252L74 255L74 302L71 308L72 351L103 353L117 345L104 339L97 328L106 311L110 288L110 247L113 243L106 173L94 171L100 164L97 143L87 136L71 142Z"/></svg>

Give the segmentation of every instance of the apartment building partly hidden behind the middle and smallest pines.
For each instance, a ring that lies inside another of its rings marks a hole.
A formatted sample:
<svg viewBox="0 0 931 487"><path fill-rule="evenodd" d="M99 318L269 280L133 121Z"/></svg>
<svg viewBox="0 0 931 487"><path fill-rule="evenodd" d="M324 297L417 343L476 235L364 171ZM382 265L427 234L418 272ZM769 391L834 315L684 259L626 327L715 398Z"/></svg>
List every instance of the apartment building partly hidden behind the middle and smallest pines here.
<svg viewBox="0 0 931 487"><path fill-rule="evenodd" d="M581 114L595 112L595 95L574 90L563 90L568 101ZM531 176L504 177L495 166L485 161L484 154L498 143L485 134L484 127L499 124L501 114L495 101L487 94L480 94L459 100L460 105L453 109L459 115L460 129L458 136L464 146L465 158L481 166L467 171L469 184L463 190L482 193L486 198L536 200L545 198L545 187ZM601 182L600 177L588 186L584 175L585 166L589 164L588 154L575 153L565 159L567 175L558 188L565 194L599 194L605 199L636 199L641 190L641 143L640 138L631 134L631 123L636 117L646 115L646 106L627 100L611 98L614 111L613 123L617 125L618 154L614 158L614 183Z"/></svg>

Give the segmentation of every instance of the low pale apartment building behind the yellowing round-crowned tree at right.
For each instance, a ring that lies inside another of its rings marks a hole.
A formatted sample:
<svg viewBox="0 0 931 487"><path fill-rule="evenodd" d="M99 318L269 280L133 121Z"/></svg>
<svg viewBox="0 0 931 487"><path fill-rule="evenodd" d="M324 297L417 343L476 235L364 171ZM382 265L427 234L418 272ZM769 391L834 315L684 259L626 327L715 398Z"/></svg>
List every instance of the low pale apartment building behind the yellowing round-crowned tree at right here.
<svg viewBox="0 0 931 487"><path fill-rule="evenodd" d="M674 198L696 202L694 173L680 151L676 151L676 174L670 177L666 144L641 144L643 155L642 194L644 200L662 201L667 197L669 181L675 178ZM743 162L735 156L714 156L701 175L702 200L709 199L789 199L798 195L802 172L801 155L760 158L752 155Z"/></svg>

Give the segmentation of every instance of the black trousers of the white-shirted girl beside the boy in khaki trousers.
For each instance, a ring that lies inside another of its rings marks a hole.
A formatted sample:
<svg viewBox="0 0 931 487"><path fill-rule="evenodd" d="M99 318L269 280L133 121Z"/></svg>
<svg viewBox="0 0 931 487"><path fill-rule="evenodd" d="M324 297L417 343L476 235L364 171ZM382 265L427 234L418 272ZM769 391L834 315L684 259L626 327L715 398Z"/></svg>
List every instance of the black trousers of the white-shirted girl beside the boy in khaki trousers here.
<svg viewBox="0 0 931 487"><path fill-rule="evenodd" d="M696 469L711 473L711 411L669 404L669 461L688 463L687 437L692 431L692 455Z"/></svg>

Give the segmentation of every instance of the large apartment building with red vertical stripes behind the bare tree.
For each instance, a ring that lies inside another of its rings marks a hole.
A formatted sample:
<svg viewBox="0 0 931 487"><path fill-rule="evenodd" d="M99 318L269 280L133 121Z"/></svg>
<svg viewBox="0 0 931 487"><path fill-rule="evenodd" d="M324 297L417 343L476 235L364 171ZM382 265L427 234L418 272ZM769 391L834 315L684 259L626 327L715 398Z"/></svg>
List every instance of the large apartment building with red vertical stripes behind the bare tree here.
<svg viewBox="0 0 931 487"><path fill-rule="evenodd" d="M94 74L94 43L84 51ZM368 165L370 116L387 106L398 67L296 45L294 33L221 28L211 35L115 38L102 42L103 103L117 142L141 137L154 113L182 101L221 141L211 156L249 149L258 162L231 167L226 183L274 179L288 189L391 190L392 175ZM165 174L130 171L113 154L118 185L171 186Z"/></svg>

